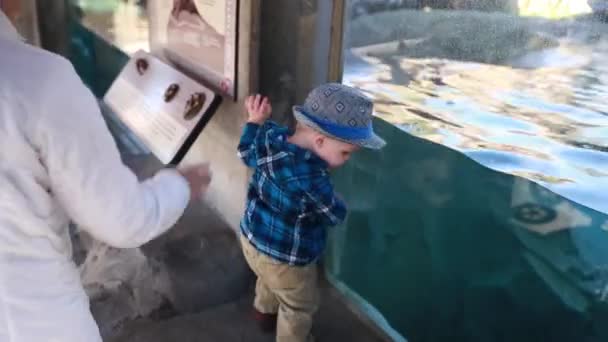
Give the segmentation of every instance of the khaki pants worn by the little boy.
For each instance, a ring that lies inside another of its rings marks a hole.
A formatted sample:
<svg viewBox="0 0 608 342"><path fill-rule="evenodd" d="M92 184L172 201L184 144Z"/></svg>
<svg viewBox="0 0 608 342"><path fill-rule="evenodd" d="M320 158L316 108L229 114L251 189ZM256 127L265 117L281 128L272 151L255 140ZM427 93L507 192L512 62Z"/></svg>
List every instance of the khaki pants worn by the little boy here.
<svg viewBox="0 0 608 342"><path fill-rule="evenodd" d="M319 307L317 265L289 266L256 250L241 235L247 263L258 276L255 288L256 310L278 313L277 342L313 341L313 315Z"/></svg>

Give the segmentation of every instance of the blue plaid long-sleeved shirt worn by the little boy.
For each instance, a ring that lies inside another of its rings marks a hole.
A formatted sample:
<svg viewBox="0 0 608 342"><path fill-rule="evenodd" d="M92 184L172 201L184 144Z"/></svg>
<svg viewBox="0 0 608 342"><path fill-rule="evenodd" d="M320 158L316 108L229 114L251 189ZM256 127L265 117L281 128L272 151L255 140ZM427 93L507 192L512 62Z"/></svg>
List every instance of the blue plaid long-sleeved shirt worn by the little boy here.
<svg viewBox="0 0 608 342"><path fill-rule="evenodd" d="M287 128L270 121L245 126L239 157L255 171L241 231L258 251L301 266L323 253L326 229L344 220L346 207L334 194L327 163L288 137Z"/></svg>

